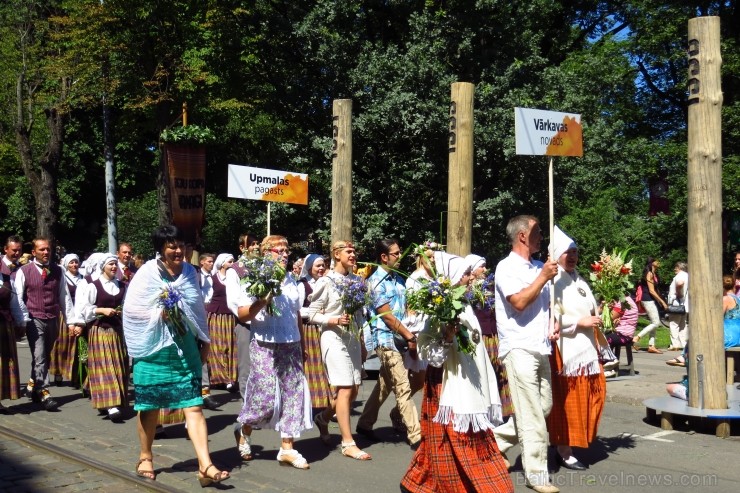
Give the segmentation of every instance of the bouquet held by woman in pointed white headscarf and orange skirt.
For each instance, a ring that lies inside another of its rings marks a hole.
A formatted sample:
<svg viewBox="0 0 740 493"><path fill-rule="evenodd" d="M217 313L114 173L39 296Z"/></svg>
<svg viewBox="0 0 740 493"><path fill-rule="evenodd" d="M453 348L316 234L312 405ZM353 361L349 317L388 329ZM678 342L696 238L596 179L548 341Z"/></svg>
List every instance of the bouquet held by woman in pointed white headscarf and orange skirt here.
<svg viewBox="0 0 740 493"><path fill-rule="evenodd" d="M611 307L619 304L626 309L625 297L634 286L630 281L632 259L626 261L626 258L626 250L614 249L611 254L602 250L599 260L591 264L591 289L596 298L604 303L601 320L606 332L614 328Z"/></svg>

